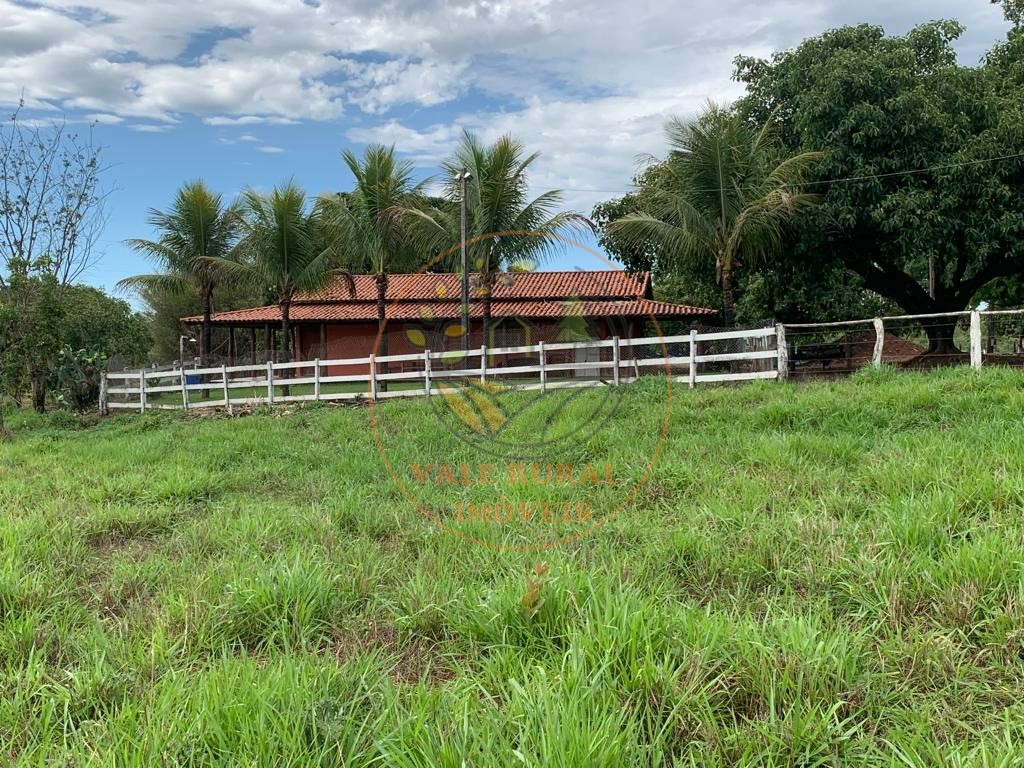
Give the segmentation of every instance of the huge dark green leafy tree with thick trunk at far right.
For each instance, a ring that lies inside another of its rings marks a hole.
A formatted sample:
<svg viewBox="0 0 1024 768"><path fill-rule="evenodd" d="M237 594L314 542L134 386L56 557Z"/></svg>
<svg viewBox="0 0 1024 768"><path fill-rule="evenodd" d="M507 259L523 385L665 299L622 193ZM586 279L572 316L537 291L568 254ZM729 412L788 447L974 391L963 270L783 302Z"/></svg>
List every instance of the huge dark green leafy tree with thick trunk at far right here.
<svg viewBox="0 0 1024 768"><path fill-rule="evenodd" d="M852 27L737 59L742 114L777 121L791 152L827 150L802 247L911 313L962 310L1024 268L1020 34L966 68L952 48L962 31ZM930 351L949 350L950 323L925 330Z"/></svg>

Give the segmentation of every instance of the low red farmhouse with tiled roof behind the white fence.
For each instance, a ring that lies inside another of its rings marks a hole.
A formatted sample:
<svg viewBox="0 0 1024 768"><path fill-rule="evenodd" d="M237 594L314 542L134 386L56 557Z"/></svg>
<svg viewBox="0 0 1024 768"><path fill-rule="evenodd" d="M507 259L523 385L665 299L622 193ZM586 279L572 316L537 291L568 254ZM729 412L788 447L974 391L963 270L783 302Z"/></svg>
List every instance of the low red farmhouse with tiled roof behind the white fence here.
<svg viewBox="0 0 1024 768"><path fill-rule="evenodd" d="M474 275L475 279L475 275ZM353 290L354 289L354 290ZM392 274L385 299L386 349L389 355L442 351L461 345L461 275ZM500 275L490 304L487 338L482 304L471 290L470 342L474 348L519 347L545 343L633 339L647 333L651 318L708 318L703 307L654 301L650 274L617 270L522 272ZM378 292L374 275L338 278L326 289L299 296L291 305L294 359L343 359L381 354L378 345ZM199 325L202 317L185 317ZM217 312L215 327L229 330L228 355L273 350L281 332L276 305ZM238 332L238 334L236 333ZM262 345L257 340L262 341ZM599 350L580 349L578 362ZM269 355L267 355L269 356ZM493 360L502 365L502 360ZM347 373L334 367L332 375Z"/></svg>

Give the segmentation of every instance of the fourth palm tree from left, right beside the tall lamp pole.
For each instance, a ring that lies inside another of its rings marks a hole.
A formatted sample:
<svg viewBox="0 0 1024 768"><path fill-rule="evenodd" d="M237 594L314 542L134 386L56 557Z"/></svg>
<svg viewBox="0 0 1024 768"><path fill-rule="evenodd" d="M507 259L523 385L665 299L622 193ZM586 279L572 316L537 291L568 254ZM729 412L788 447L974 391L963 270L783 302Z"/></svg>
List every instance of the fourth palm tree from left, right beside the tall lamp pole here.
<svg viewBox="0 0 1024 768"><path fill-rule="evenodd" d="M488 146L466 131L455 154L442 164L449 201L461 202L463 171L472 176L466 186L467 240L470 269L477 273L475 293L480 298L484 339L501 274L561 250L562 242L545 236L591 227L586 217L559 210L564 196L558 189L530 198L527 172L539 157L540 153L527 155L522 142L511 135ZM425 231L433 238L427 247L435 249L434 253L459 245L460 215L460 207L452 205L433 209L426 217L431 226Z"/></svg>

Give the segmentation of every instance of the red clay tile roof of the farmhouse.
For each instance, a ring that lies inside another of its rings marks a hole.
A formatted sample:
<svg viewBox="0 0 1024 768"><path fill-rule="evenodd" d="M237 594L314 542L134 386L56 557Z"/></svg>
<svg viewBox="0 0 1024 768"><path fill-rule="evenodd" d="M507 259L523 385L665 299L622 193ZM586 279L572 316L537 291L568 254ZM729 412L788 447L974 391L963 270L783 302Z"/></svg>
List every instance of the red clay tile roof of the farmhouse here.
<svg viewBox="0 0 1024 768"><path fill-rule="evenodd" d="M377 319L377 284L373 275L355 275L355 298L343 281L315 294L296 299L293 323L366 323ZM393 274L388 281L387 317L392 321L457 319L460 316L461 278L458 274ZM715 310L669 304L650 297L650 275L639 280L620 271L528 272L505 275L495 290L490 312L501 317L694 317ZM479 301L470 314L479 317ZM185 317L198 324L202 317ZM217 312L217 325L280 323L276 305Z"/></svg>

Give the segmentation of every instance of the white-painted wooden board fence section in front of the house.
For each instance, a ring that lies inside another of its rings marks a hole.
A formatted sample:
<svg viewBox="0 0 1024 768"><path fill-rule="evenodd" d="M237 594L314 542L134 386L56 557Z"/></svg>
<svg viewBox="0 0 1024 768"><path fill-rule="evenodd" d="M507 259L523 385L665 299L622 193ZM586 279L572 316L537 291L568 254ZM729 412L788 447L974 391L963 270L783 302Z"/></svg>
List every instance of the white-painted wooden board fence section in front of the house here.
<svg viewBox="0 0 1024 768"><path fill-rule="evenodd" d="M675 381L697 384L775 379L784 376L782 353L775 348L777 327L681 336L582 341L531 346L480 347L469 352L426 350L415 354L219 366L198 370L106 373L99 408L203 409L274 404L304 400L379 400L441 393L446 381L501 381L514 389L555 389L627 384L645 373L670 372ZM733 342L740 351L702 353ZM585 350L597 350L580 355ZM509 359L509 356L518 359ZM557 361L572 355L584 361ZM592 356L601 359L590 359ZM536 357L536 364L519 365ZM604 359L604 358L607 359ZM503 358L503 359L502 359ZM502 359L506 365L496 365ZM554 360L554 361L553 361ZM513 365L507 365L513 364ZM717 367L724 370L707 372ZM365 373L330 375L331 369L364 369ZM385 369L387 372L385 373ZM397 369L397 370L395 370ZM409 370L413 369L413 370ZM701 369L706 373L701 373ZM659 371L660 370L660 371ZM391 386L390 384L395 386Z"/></svg>

